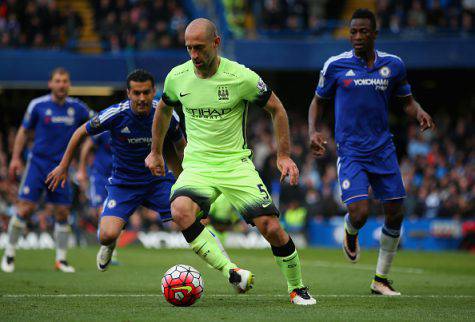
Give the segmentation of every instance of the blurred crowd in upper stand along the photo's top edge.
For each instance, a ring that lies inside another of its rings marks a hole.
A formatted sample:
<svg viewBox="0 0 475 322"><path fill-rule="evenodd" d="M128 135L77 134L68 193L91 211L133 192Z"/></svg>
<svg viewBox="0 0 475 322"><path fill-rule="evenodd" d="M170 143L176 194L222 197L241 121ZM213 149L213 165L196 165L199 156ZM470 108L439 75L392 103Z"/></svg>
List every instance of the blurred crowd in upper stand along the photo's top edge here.
<svg viewBox="0 0 475 322"><path fill-rule="evenodd" d="M197 0L197 3L207 2ZM210 1L208 1L210 2ZM471 0L375 0L381 35L422 38L473 36ZM191 20L179 0L90 0L91 29L104 51L183 47ZM344 37L346 1L222 0L222 16L235 38ZM78 46L86 13L61 0L0 0L0 48ZM220 25L221 28L224 28ZM222 30L223 31L223 30Z"/></svg>

